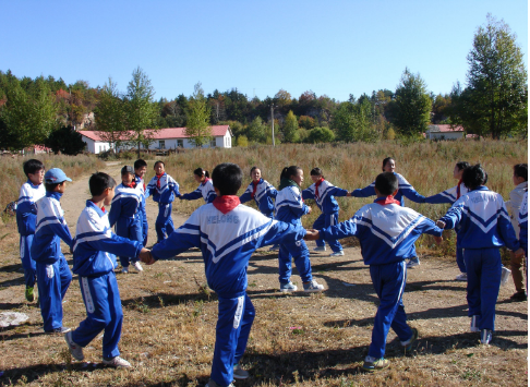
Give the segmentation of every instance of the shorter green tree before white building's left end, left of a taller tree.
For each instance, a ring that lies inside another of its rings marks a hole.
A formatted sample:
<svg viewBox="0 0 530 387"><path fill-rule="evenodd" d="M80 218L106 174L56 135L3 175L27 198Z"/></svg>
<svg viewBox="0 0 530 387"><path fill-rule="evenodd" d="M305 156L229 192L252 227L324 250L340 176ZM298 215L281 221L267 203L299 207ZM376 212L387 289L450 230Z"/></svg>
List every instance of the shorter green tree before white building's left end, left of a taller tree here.
<svg viewBox="0 0 530 387"><path fill-rule="evenodd" d="M112 145L115 152L124 140L125 107L117 84L109 77L99 95L95 111L96 130L99 136Z"/></svg>

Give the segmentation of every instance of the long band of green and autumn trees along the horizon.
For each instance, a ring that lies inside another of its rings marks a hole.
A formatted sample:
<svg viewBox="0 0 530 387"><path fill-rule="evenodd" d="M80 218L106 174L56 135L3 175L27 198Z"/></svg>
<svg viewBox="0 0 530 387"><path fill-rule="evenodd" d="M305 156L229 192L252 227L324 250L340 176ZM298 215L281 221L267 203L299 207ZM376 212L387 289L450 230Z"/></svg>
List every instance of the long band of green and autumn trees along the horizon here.
<svg viewBox="0 0 530 387"><path fill-rule="evenodd" d="M52 76L17 78L0 71L0 148L44 143L53 150L80 152L81 136L72 129L81 126L138 149L148 146L157 129L185 126L201 146L209 142L208 128L215 124L229 124L236 145L272 144L273 116L276 143L421 137L429 124L442 123L479 136L526 136L527 70L509 26L487 15L467 60L465 85L456 82L449 94L429 92L421 75L407 68L394 90L350 95L346 101L312 90L298 98L285 89L264 99L237 88L205 95L201 83L189 97L155 100L150 80L140 68L123 93L111 78L94 88L84 81L67 85ZM69 149L72 144L77 149Z"/></svg>

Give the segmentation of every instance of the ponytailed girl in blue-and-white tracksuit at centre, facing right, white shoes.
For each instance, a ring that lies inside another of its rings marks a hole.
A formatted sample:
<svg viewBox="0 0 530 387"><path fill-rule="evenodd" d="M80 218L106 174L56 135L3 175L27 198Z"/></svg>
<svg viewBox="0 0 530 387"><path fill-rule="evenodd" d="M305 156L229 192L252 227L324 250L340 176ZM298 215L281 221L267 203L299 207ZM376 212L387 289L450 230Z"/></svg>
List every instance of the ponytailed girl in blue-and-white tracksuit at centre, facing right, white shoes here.
<svg viewBox="0 0 530 387"><path fill-rule="evenodd" d="M302 226L300 218L311 213L311 207L308 207L302 202L300 184L303 182L303 170L297 166L286 167L281 171L280 185L278 188L278 195L276 196L276 219L285 221L293 226ZM278 254L279 263L279 282L281 292L297 291L298 288L290 280L291 278L291 263L294 259L298 273L302 278L304 292L318 292L324 290L322 285L318 285L311 274L311 261L308 245L304 241L300 242L284 242L280 244Z"/></svg>

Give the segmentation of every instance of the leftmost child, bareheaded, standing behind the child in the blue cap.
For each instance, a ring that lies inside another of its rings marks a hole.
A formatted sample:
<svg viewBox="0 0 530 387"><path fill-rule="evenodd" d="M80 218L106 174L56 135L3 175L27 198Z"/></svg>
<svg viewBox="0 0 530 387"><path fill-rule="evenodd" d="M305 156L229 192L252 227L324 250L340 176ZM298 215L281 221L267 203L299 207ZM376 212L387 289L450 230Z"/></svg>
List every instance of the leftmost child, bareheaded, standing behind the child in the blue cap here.
<svg viewBox="0 0 530 387"><path fill-rule="evenodd" d="M35 237L37 208L35 203L46 195L43 179L45 167L36 159L29 159L23 164L27 181L21 186L21 194L16 203L16 226L21 234L21 261L24 268L24 281L26 283L26 300L35 301L35 281L37 278L35 261L32 259L32 243Z"/></svg>

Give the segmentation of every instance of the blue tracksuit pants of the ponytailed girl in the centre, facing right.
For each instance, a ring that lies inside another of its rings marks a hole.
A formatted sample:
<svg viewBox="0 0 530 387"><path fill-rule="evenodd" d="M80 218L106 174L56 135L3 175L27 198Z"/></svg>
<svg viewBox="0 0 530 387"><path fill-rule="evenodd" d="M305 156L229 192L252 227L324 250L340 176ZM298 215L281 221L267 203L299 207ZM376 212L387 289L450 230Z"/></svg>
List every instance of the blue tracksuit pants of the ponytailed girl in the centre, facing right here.
<svg viewBox="0 0 530 387"><path fill-rule="evenodd" d="M280 283L287 283L291 278L292 258L294 258L294 265L297 265L302 281L310 282L313 276L311 274L309 249L304 241L297 241L280 244L278 254Z"/></svg>

